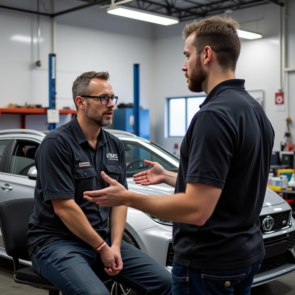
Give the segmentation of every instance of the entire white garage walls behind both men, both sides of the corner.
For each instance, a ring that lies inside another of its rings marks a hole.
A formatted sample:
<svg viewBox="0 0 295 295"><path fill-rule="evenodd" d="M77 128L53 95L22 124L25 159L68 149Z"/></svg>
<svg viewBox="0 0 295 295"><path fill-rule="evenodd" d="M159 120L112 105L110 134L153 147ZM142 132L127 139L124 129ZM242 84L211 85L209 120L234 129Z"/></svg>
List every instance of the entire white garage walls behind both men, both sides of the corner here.
<svg viewBox="0 0 295 295"><path fill-rule="evenodd" d="M33 3L34 2L34 3ZM42 1L41 1L42 2ZM289 1L288 60L295 68L295 1ZM51 13L51 1L45 1L42 12ZM84 4L82 1L55 1L55 11ZM1 5L36 10L35 1L0 0ZM264 108L276 132L275 149L279 148L285 131L288 112L275 112L274 94L279 86L278 6L266 4L234 11L241 28L263 34L263 39L242 41L236 76L246 80L248 90L264 90ZM42 66L37 68L37 44L11 40L14 35L37 37L37 16L0 9L0 107L9 102L48 106L48 54L51 53L51 19L41 16L40 44ZM189 21L190 22L190 21ZM141 105L150 109L151 139L169 150L182 138L165 138L165 99L192 96L181 71L184 62L181 31L182 22L173 26L153 25L106 14L105 9L92 6L56 17L57 107L73 107L73 80L84 71L109 71L110 82L119 102L133 101L133 64L140 63ZM295 94L295 74L284 75L285 96L290 101ZM289 81L287 83L286 81ZM290 116L295 103L290 102ZM288 109L288 100L286 110ZM40 118L40 123L37 121ZM295 117L294 117L295 118ZM64 116L63 121L68 120ZM27 116L27 127L46 128L46 116ZM0 129L19 127L18 115L2 114ZM291 133L295 134L294 125Z"/></svg>

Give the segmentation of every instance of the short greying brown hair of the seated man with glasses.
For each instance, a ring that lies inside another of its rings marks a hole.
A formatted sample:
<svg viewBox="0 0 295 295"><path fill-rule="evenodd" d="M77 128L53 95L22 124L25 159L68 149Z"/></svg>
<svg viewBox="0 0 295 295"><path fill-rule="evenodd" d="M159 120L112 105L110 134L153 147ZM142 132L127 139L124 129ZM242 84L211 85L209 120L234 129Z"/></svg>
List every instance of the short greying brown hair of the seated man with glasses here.
<svg viewBox="0 0 295 295"><path fill-rule="evenodd" d="M89 87L89 81L92 78L98 78L102 80L108 80L110 77L108 72L86 72L77 77L77 79L73 83L72 92L73 92L73 100L78 111L78 106L76 104L76 97L81 95L90 95L93 92L93 89Z"/></svg>

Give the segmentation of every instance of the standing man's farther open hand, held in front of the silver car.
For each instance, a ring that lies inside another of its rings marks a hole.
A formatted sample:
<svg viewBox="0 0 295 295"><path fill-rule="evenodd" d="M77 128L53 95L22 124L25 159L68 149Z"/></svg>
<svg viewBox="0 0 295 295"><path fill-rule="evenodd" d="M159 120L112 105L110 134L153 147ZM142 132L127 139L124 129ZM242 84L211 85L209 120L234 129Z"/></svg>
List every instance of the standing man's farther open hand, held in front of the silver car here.
<svg viewBox="0 0 295 295"><path fill-rule="evenodd" d="M165 169L158 162L144 160L145 164L153 168L133 175L135 183L147 186L151 184L160 184L165 182Z"/></svg>

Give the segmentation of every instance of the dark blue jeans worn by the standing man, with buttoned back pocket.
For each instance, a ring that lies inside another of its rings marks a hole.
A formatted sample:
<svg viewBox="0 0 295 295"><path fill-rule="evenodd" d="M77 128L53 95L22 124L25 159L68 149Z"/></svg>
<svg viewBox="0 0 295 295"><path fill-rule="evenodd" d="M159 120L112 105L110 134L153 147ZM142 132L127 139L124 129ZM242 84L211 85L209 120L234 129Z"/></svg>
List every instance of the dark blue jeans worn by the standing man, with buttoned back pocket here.
<svg viewBox="0 0 295 295"><path fill-rule="evenodd" d="M173 295L250 295L253 277L262 259L231 270L200 270L173 262Z"/></svg>

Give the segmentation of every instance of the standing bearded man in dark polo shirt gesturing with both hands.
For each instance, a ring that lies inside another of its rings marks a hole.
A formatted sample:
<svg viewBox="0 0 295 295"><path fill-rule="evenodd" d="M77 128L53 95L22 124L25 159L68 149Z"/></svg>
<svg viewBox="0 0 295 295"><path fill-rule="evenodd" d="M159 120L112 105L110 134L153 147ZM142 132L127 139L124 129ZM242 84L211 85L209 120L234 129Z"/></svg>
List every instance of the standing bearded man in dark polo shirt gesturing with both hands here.
<svg viewBox="0 0 295 295"><path fill-rule="evenodd" d="M260 214L274 132L263 108L235 78L238 24L211 17L186 25L182 67L188 87L207 97L180 149L178 175L158 163L136 183L167 183L172 196L143 196L110 183L84 197L100 206L126 205L173 223L173 295L250 294L265 254Z"/></svg>

